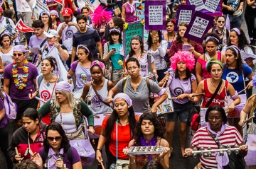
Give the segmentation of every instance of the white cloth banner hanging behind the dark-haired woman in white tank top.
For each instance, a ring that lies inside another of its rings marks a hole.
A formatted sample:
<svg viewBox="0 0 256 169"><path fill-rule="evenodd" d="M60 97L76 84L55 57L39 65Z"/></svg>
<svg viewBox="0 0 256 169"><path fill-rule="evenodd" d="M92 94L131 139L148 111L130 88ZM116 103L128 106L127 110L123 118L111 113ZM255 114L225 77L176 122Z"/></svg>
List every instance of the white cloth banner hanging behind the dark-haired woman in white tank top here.
<svg viewBox="0 0 256 169"><path fill-rule="evenodd" d="M46 57L50 57L50 56L56 59L57 67L58 67L58 72L57 72L58 76L63 78L64 81L68 81L68 78L67 78L68 71L65 69L63 62L61 61L60 54L58 53L58 49L56 47L52 47L52 49L50 49L50 52L48 52L48 54L46 55ZM41 74L41 64L38 65L37 69L38 69L38 74Z"/></svg>

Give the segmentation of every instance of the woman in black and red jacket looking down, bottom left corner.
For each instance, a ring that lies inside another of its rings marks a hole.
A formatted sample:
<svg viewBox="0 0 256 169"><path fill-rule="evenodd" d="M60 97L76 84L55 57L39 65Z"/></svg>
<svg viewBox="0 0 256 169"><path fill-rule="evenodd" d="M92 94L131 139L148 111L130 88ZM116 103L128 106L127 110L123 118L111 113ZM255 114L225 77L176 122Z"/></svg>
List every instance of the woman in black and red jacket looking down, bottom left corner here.
<svg viewBox="0 0 256 169"><path fill-rule="evenodd" d="M23 126L18 128L11 136L10 146L8 148L9 156L14 163L30 159L33 153L37 153L43 144L46 133L46 124L41 122L38 111L28 108L23 112ZM15 147L18 148L18 155Z"/></svg>

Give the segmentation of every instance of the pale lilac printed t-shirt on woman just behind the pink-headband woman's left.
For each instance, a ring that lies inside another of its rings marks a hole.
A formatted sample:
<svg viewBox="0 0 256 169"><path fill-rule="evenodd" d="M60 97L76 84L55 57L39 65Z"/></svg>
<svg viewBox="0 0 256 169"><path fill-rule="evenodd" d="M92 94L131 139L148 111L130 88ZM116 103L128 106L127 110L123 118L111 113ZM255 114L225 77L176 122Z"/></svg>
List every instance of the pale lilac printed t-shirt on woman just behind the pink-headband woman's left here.
<svg viewBox="0 0 256 169"><path fill-rule="evenodd" d="M78 91L80 88L83 88L88 81L90 81L90 78L92 77L90 74L90 68L81 66L78 61L73 62L70 67L71 70L75 72L75 91Z"/></svg>

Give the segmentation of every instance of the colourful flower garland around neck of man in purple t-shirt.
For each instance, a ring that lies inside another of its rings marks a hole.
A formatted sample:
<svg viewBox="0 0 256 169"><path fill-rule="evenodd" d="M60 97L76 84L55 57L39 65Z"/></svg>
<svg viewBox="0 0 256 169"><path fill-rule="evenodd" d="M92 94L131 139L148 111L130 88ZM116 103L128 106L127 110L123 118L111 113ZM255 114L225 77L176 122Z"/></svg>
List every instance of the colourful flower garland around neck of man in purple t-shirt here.
<svg viewBox="0 0 256 169"><path fill-rule="evenodd" d="M16 64L15 60L14 60L13 67L12 67L11 71L13 73L14 84L15 84L16 88L18 88L19 90L26 88L26 85L27 85L26 83L28 82L28 60L24 59L22 83L20 83L20 81L18 79L18 68L17 68L17 64Z"/></svg>

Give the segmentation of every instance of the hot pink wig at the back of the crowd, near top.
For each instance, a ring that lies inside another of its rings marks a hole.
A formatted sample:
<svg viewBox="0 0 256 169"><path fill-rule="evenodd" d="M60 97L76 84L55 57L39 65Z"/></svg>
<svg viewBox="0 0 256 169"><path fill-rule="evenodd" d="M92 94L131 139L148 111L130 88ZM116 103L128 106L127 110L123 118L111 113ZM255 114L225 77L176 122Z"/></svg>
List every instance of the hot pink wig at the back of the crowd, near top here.
<svg viewBox="0 0 256 169"><path fill-rule="evenodd" d="M112 18L112 12L106 11L106 8L103 8L102 6L98 6L94 13L92 13L92 23L95 25L101 25L102 19L105 18L105 22L108 23L110 19Z"/></svg>

